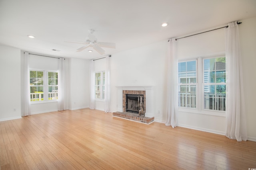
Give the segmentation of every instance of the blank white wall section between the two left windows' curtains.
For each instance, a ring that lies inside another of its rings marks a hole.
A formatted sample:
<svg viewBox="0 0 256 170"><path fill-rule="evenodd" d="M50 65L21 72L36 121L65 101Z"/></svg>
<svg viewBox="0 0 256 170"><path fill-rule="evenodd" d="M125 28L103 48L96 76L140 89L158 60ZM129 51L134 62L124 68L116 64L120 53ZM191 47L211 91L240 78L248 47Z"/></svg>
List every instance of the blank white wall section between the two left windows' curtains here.
<svg viewBox="0 0 256 170"><path fill-rule="evenodd" d="M69 109L82 109L90 106L89 69L90 61L70 59Z"/></svg>

